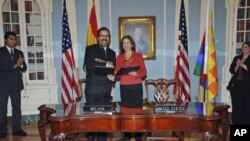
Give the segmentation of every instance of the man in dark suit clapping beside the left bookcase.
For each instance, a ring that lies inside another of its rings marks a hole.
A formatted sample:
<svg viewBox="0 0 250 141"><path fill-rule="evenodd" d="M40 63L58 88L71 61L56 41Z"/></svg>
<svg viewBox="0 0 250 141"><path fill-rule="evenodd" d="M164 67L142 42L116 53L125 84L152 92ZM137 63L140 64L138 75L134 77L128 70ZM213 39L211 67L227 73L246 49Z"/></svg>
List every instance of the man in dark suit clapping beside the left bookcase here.
<svg viewBox="0 0 250 141"><path fill-rule="evenodd" d="M8 98L12 105L13 136L27 136L21 129L21 90L24 88L22 73L27 70L23 52L16 49L15 32L6 32L5 46L0 47L0 138L5 138L7 129Z"/></svg>

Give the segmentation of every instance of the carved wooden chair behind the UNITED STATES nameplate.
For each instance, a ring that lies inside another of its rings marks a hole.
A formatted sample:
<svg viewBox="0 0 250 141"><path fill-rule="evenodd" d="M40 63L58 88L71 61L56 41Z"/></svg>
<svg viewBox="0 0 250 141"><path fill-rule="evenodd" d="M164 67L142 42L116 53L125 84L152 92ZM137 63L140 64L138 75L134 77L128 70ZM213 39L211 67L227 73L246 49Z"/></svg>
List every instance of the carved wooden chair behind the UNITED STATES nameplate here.
<svg viewBox="0 0 250 141"><path fill-rule="evenodd" d="M155 98L155 103L158 104L166 104L169 100L169 87L176 85L176 93L174 94L174 102L180 102L180 95L179 95L179 82L175 79L165 79L165 78L159 78L159 79L148 79L145 80L145 88L146 88L146 100L144 102L148 103L150 105L149 102L149 85L153 85L155 87L154 90L154 98ZM171 102L173 102L171 101ZM147 105L147 104L146 104ZM157 135L154 135L157 134ZM181 132L180 135L177 135L176 132L172 132L171 136L166 136L166 133L164 133L164 135L160 135L160 133L146 133L146 141L151 141L151 140L183 140L184 138L184 132Z"/></svg>

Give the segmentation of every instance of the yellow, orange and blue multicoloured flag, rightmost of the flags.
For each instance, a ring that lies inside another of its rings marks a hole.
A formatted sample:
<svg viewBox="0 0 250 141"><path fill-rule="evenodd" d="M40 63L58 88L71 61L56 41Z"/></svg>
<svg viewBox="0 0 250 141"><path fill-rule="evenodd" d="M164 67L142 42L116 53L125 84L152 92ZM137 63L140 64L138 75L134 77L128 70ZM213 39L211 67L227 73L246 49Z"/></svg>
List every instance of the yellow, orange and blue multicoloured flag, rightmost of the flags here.
<svg viewBox="0 0 250 141"><path fill-rule="evenodd" d="M213 6L214 0L208 0L206 29L194 71L195 75L200 76L200 82L203 82L200 83L202 84L200 87L203 87L204 90L199 91L199 97L203 97L203 100L199 101L203 102L212 101L215 96L218 95L218 74L214 42ZM203 47L204 49L202 49Z"/></svg>

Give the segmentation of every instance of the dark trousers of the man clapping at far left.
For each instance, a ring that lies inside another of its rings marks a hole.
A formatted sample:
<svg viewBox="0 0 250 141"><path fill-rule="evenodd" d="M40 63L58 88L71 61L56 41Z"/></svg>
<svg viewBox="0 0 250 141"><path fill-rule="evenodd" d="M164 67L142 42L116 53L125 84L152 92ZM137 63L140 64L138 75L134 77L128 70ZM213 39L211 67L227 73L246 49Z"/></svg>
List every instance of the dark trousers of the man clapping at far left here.
<svg viewBox="0 0 250 141"><path fill-rule="evenodd" d="M1 86L0 86L1 87ZM7 133L7 106L10 97L12 105L12 130L21 129L21 90L13 87L0 88L0 133Z"/></svg>

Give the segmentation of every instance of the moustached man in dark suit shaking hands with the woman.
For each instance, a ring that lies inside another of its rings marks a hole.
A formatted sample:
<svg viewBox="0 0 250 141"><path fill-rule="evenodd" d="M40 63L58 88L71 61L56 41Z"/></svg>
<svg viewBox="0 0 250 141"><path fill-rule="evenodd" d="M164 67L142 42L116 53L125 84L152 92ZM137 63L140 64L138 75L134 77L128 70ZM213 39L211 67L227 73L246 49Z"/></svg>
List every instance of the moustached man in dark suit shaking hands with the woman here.
<svg viewBox="0 0 250 141"><path fill-rule="evenodd" d="M86 104L110 104L112 81L109 76L96 75L95 66L114 67L116 54L109 48L110 31L102 27L97 32L97 44L86 47L84 62L86 64ZM106 133L88 133L88 141L94 141L97 134L98 141L106 141Z"/></svg>

